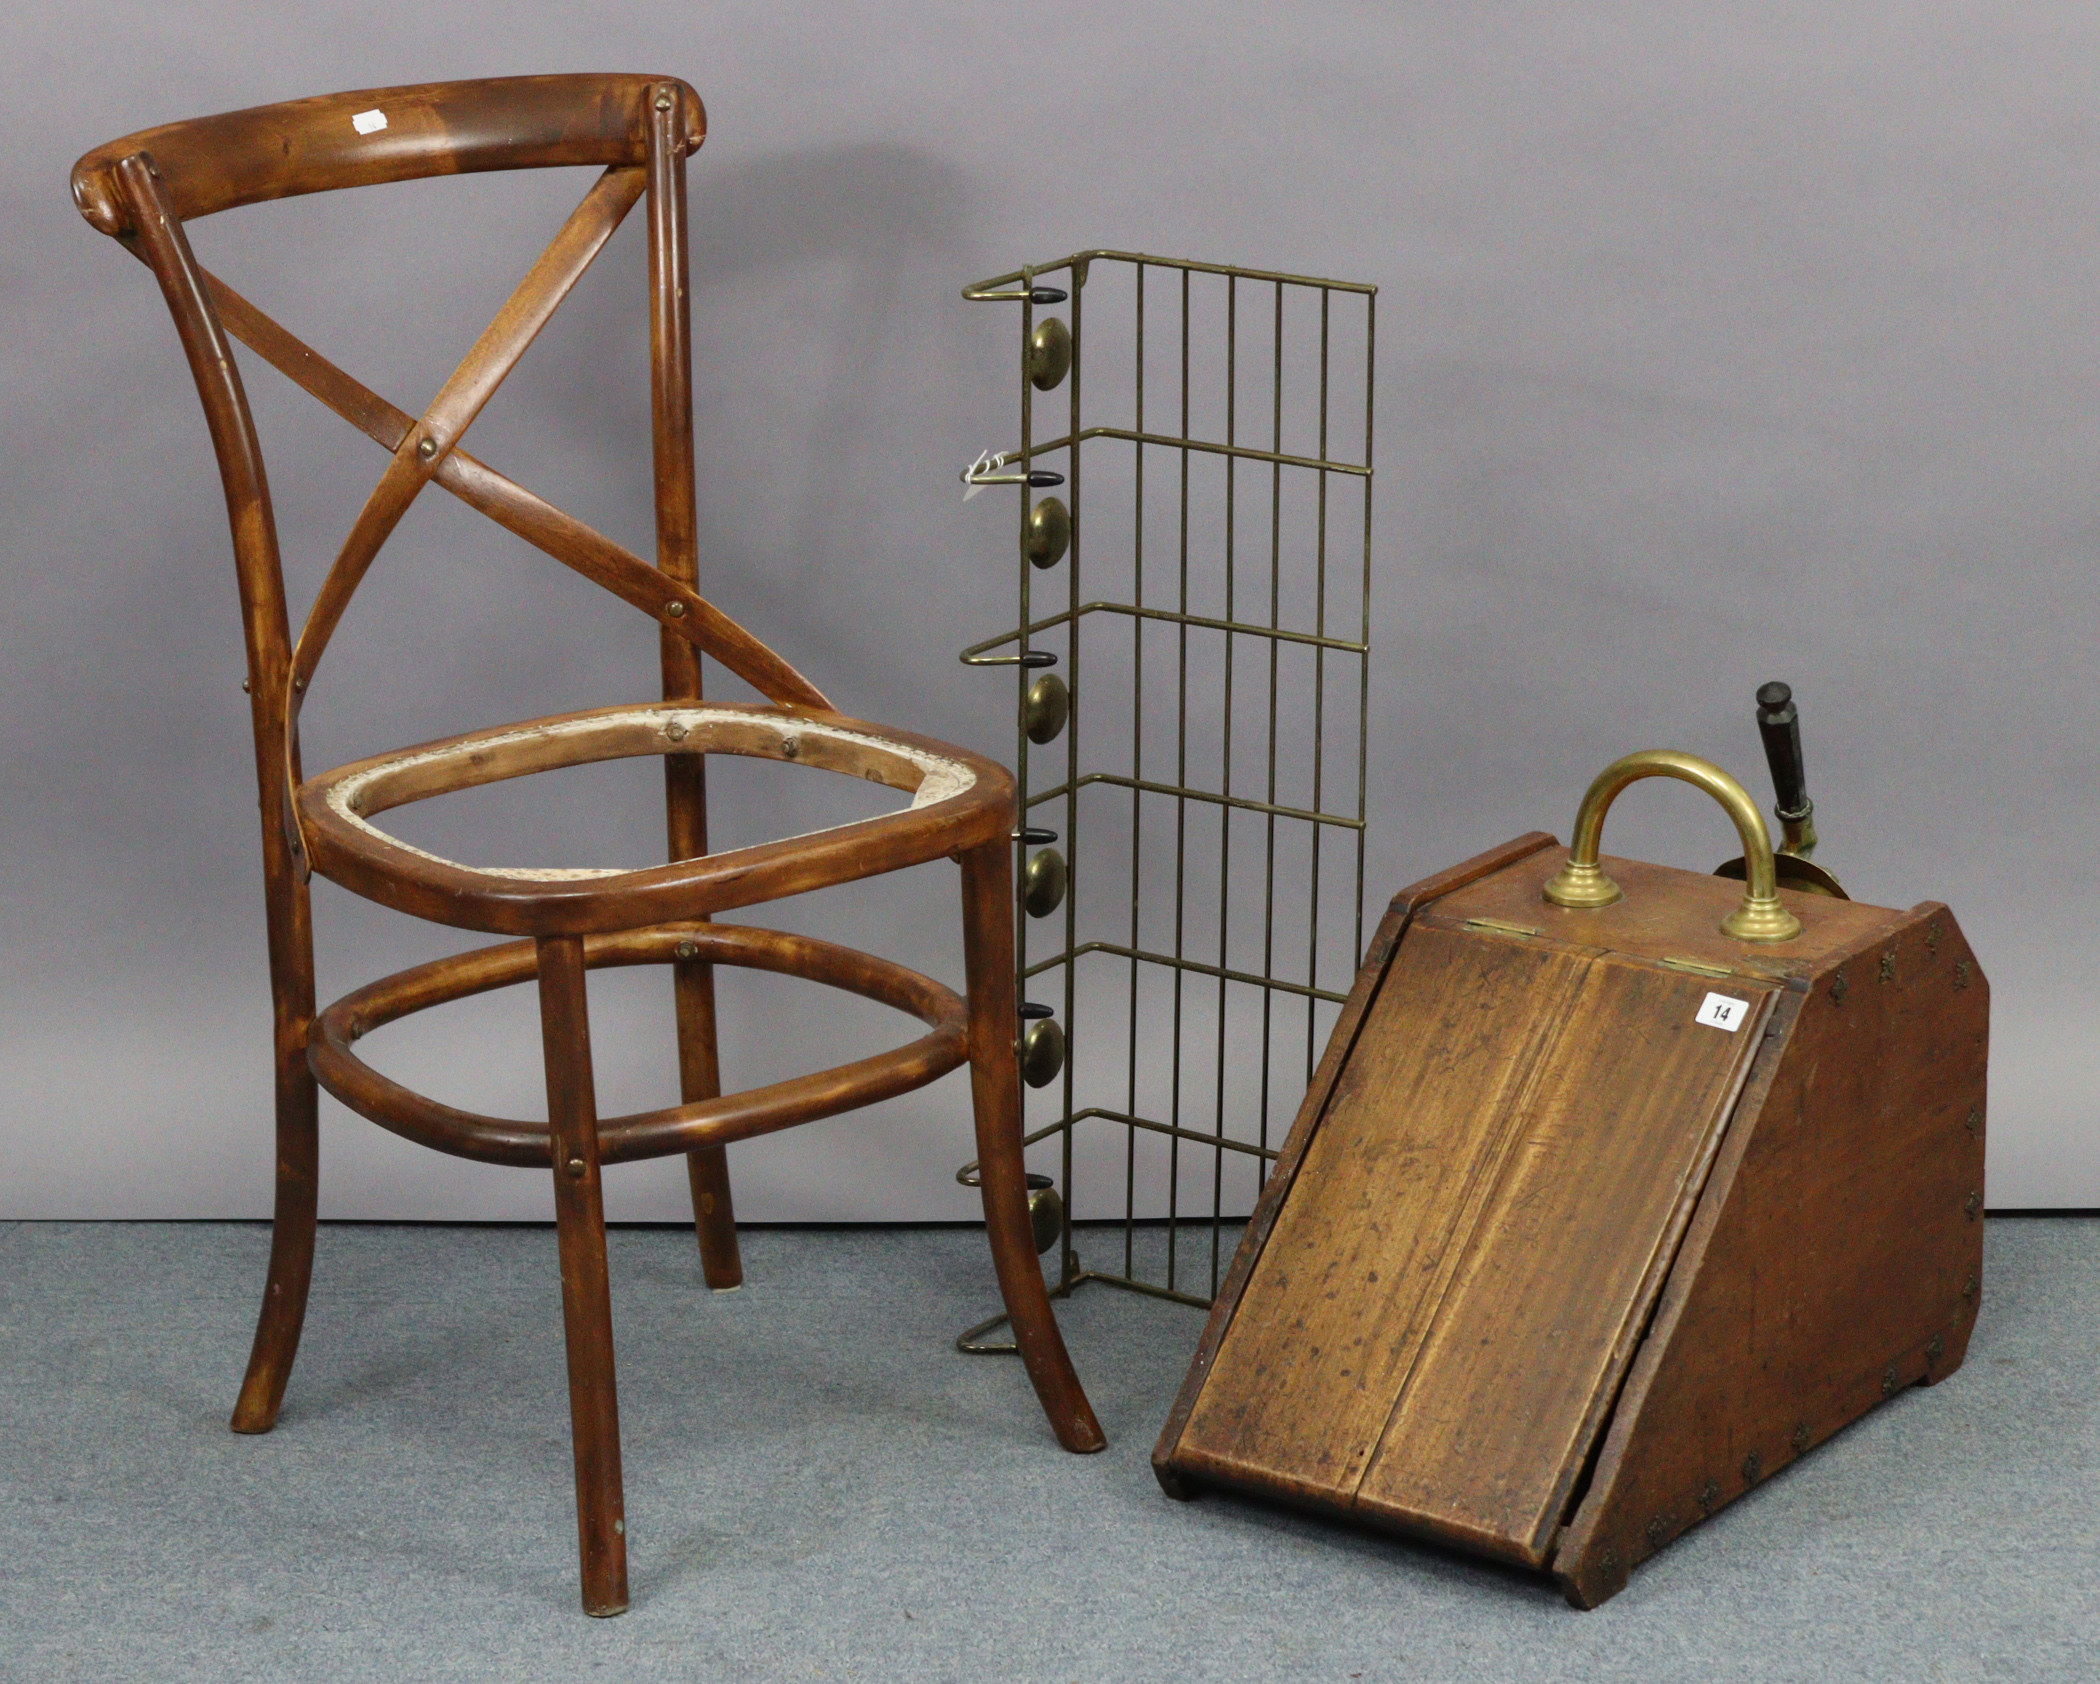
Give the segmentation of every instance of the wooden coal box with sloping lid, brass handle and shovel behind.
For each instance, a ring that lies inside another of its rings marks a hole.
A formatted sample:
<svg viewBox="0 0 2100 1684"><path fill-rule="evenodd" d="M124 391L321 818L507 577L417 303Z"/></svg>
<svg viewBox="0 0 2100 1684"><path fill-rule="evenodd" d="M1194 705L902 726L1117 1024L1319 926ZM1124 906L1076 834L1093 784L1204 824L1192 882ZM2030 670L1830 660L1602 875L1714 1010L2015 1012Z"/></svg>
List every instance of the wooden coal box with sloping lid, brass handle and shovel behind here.
<svg viewBox="0 0 2100 1684"><path fill-rule="evenodd" d="M1777 859L1735 779L1648 752L1573 848L1520 836L1392 901L1153 1453L1170 1495L1348 1516L1590 1608L1961 1365L1984 976L1945 905L1804 859L1793 710L1760 703ZM1598 859L1655 775L1730 811L1745 884Z"/></svg>

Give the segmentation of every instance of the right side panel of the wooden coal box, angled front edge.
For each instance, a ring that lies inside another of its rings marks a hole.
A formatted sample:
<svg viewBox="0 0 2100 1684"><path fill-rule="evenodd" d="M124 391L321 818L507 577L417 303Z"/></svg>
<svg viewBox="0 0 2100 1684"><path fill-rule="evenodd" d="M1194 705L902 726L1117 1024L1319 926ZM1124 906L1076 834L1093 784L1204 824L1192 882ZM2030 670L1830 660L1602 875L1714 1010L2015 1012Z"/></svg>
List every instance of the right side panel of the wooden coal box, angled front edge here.
<svg viewBox="0 0 2100 1684"><path fill-rule="evenodd" d="M1982 1296L1989 1008L1936 903L1833 953L1800 999L1554 1560L1571 1602L1615 1594L1688 1527L1961 1365Z"/></svg>

